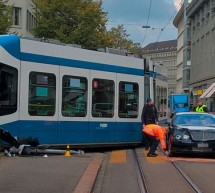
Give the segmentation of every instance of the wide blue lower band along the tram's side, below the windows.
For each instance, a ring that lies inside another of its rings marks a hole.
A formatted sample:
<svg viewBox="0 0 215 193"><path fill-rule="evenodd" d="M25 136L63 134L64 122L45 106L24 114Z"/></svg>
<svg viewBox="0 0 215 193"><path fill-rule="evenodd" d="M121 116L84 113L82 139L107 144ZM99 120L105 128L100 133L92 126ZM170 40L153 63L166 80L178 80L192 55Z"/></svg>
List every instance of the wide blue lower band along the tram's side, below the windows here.
<svg viewBox="0 0 215 193"><path fill-rule="evenodd" d="M38 138L40 144L125 143L142 140L141 122L20 120L1 125L13 136Z"/></svg>

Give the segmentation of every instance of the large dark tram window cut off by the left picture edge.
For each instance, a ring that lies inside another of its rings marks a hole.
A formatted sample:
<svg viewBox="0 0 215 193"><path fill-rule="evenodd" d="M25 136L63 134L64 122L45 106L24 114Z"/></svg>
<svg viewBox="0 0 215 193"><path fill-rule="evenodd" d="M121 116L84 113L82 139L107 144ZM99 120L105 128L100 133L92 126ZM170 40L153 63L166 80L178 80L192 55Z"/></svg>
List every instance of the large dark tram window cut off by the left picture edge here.
<svg viewBox="0 0 215 193"><path fill-rule="evenodd" d="M18 70L0 63L0 116L17 111Z"/></svg>

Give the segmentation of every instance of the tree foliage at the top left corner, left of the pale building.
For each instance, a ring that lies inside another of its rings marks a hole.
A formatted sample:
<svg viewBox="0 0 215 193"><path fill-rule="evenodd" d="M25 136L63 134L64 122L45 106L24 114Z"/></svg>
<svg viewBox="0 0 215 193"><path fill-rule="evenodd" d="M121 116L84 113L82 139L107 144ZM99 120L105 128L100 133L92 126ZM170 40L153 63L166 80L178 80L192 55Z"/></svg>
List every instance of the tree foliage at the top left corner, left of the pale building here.
<svg viewBox="0 0 215 193"><path fill-rule="evenodd" d="M8 33L12 24L12 6L7 6L8 0L0 0L0 34Z"/></svg>

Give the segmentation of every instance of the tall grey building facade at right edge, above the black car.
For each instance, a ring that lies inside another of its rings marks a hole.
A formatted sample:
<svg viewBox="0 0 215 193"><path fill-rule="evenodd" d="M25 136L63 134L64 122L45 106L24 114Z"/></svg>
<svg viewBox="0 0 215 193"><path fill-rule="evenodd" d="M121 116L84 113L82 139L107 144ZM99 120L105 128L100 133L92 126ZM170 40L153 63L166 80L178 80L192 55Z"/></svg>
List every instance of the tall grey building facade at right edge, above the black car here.
<svg viewBox="0 0 215 193"><path fill-rule="evenodd" d="M194 102L203 96L209 111L215 111L215 0L193 0L187 7L191 22L190 88ZM202 95L211 88L209 95Z"/></svg>

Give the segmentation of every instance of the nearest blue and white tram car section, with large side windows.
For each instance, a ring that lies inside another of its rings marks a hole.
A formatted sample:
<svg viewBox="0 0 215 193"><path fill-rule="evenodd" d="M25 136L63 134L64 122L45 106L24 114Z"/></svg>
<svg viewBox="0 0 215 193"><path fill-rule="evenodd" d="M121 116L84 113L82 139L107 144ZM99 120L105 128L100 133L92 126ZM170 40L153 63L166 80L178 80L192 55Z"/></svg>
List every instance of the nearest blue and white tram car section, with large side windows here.
<svg viewBox="0 0 215 193"><path fill-rule="evenodd" d="M142 141L144 60L0 36L0 127L49 145Z"/></svg>

